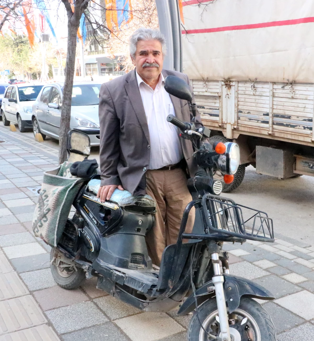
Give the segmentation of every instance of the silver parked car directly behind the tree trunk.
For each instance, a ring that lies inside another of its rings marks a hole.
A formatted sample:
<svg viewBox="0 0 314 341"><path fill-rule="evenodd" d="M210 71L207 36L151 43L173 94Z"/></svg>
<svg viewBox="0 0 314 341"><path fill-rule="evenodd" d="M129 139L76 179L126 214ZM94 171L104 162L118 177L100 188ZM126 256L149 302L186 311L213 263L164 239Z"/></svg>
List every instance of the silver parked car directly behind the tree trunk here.
<svg viewBox="0 0 314 341"><path fill-rule="evenodd" d="M99 90L96 82L74 82L70 128L87 134L99 146ZM33 132L59 139L63 83L45 85L33 104Z"/></svg>

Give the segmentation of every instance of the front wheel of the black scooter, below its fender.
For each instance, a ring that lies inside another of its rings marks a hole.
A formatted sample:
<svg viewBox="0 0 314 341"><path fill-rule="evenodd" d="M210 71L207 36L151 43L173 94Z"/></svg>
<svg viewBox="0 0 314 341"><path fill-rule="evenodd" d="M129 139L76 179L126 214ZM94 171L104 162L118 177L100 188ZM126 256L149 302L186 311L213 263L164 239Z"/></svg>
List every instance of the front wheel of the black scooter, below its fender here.
<svg viewBox="0 0 314 341"><path fill-rule="evenodd" d="M276 341L276 331L271 317L251 298L241 298L239 307L228 315L228 320L231 341ZM209 334L220 337L215 298L205 301L198 307L198 317L194 311L188 328L188 341L214 340Z"/></svg>

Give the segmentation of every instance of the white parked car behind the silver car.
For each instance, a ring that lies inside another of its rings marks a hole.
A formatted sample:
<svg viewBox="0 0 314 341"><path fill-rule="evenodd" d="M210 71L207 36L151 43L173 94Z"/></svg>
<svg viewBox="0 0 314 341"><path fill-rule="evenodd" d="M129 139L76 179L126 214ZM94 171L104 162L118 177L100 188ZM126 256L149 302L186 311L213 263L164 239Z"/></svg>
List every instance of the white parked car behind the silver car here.
<svg viewBox="0 0 314 341"><path fill-rule="evenodd" d="M27 128L32 128L32 104L42 87L43 85L25 84L8 86L1 105L3 124L17 123L21 133Z"/></svg>

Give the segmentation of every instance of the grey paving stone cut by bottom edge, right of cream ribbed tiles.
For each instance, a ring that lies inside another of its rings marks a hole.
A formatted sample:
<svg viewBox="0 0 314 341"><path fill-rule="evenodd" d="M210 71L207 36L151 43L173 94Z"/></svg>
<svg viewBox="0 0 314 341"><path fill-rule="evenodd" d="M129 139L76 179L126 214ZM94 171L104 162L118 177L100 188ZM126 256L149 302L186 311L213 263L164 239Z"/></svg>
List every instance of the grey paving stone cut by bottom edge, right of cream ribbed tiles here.
<svg viewBox="0 0 314 341"><path fill-rule="evenodd" d="M130 339L112 322L105 322L82 330L62 335L63 341L129 341Z"/></svg>

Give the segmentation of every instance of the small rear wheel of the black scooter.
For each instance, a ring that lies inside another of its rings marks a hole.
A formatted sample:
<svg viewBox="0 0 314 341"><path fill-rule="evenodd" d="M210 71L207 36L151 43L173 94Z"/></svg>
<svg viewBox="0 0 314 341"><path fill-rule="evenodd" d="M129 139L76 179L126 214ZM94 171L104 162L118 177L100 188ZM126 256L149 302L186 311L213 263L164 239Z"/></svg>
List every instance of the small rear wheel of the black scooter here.
<svg viewBox="0 0 314 341"><path fill-rule="evenodd" d="M53 260L53 254L56 252L55 248L51 249L50 262ZM56 283L64 289L76 289L81 282L86 278L85 272L81 268L74 268L70 264L59 262L50 264L51 275Z"/></svg>

